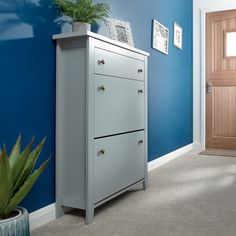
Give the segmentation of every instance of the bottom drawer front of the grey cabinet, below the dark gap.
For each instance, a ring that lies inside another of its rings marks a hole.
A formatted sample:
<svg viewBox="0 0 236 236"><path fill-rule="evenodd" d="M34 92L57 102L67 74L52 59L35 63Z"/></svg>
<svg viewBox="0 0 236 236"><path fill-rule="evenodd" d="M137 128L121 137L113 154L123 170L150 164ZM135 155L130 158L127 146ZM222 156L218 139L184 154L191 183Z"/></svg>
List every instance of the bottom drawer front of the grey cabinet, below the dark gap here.
<svg viewBox="0 0 236 236"><path fill-rule="evenodd" d="M144 131L95 140L95 203L144 178Z"/></svg>

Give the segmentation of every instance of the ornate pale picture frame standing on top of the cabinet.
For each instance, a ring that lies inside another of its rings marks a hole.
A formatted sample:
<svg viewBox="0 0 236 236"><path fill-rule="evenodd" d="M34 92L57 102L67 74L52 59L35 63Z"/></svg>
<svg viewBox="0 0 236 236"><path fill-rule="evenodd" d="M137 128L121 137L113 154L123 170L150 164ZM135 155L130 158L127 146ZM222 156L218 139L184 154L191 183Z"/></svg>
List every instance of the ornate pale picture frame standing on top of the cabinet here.
<svg viewBox="0 0 236 236"><path fill-rule="evenodd" d="M130 23L116 19L107 19L111 39L134 46Z"/></svg>

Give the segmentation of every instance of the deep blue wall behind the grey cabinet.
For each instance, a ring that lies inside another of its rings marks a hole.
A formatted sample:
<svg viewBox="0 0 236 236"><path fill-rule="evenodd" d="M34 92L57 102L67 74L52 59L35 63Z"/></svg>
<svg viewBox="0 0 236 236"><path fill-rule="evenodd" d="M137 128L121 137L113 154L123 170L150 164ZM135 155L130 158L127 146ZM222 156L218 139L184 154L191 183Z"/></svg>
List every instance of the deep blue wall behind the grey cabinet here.
<svg viewBox="0 0 236 236"><path fill-rule="evenodd" d="M0 0L0 144L9 149L47 137L40 161L48 168L22 205L34 211L55 201L55 45L51 0ZM135 47L149 58L149 160L192 142L192 1L106 0L111 17L129 21ZM147 3L148 2L148 3ZM152 19L170 30L169 55L151 48ZM173 21L183 27L183 50L173 46ZM101 32L105 32L104 25Z"/></svg>

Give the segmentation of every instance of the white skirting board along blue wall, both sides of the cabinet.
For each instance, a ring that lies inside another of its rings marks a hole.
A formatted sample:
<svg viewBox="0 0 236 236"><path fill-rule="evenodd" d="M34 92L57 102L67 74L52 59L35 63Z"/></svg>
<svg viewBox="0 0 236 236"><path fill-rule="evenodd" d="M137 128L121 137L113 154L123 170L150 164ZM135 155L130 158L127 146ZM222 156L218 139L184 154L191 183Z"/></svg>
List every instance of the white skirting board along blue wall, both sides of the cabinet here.
<svg viewBox="0 0 236 236"><path fill-rule="evenodd" d="M168 153L158 159L148 163L148 171L154 170L159 166L166 164L167 162L185 154L193 149L193 144L189 144L185 147L177 149L171 153ZM34 230L52 220L56 219L56 205L55 203L41 208L29 214L30 230Z"/></svg>

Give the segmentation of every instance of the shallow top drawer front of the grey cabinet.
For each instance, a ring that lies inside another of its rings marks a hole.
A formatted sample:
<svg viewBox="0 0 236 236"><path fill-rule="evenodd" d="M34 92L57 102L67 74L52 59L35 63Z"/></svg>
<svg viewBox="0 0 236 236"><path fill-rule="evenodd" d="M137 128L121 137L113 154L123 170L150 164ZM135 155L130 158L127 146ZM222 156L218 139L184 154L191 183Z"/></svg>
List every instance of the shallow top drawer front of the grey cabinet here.
<svg viewBox="0 0 236 236"><path fill-rule="evenodd" d="M144 61L100 48L95 49L94 70L96 74L144 80Z"/></svg>

